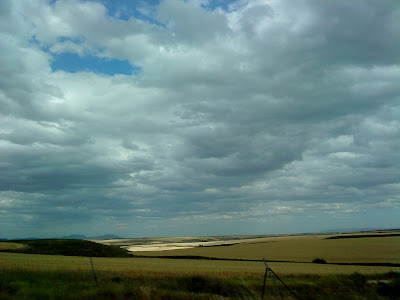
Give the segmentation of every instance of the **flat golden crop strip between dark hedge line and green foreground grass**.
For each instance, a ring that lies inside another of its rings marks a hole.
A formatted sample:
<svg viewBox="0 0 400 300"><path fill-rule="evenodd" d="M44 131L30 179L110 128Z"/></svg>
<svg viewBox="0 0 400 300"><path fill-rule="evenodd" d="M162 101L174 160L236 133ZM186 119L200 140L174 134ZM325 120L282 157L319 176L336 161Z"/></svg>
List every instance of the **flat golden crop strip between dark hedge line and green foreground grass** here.
<svg viewBox="0 0 400 300"><path fill-rule="evenodd" d="M262 277L265 266L262 261L211 261L193 259L163 258L92 258L97 273L126 272L134 274L202 274L223 277L259 274ZM390 271L400 272L399 267L340 266L313 263L269 263L281 275L288 274L378 274ZM0 253L0 271L91 271L88 257Z"/></svg>

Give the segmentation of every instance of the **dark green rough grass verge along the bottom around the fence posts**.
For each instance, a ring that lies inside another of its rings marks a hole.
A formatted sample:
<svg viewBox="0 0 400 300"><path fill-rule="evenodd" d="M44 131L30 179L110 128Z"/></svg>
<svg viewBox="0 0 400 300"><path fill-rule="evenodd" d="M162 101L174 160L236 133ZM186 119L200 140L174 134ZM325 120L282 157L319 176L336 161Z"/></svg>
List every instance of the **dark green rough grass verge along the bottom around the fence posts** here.
<svg viewBox="0 0 400 300"><path fill-rule="evenodd" d="M0 299L259 299L259 275L213 277L166 273L0 271ZM400 273L290 275L282 280L300 299L400 299ZM377 283L377 280L390 280ZM267 278L265 299L278 299ZM290 293L279 284L285 299Z"/></svg>

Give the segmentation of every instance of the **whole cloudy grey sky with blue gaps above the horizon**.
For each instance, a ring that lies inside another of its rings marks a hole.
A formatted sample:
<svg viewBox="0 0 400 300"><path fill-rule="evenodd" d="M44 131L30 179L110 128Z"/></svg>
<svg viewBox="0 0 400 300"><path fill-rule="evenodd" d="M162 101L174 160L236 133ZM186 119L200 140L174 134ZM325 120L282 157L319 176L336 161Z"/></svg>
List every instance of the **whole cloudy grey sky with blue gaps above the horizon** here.
<svg viewBox="0 0 400 300"><path fill-rule="evenodd" d="M400 2L0 0L0 238L400 227Z"/></svg>

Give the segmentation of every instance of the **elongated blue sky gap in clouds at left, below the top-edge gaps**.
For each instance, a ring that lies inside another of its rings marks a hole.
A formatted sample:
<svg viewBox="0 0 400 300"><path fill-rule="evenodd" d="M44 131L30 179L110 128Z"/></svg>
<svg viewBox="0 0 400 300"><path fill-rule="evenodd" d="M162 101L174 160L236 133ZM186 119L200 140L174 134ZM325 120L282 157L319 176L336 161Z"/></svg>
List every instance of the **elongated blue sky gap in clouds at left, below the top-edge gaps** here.
<svg viewBox="0 0 400 300"><path fill-rule="evenodd" d="M127 60L102 58L96 56L80 57L75 53L53 54L53 72L62 70L70 73L89 71L107 75L132 75L140 72L140 67L132 66Z"/></svg>

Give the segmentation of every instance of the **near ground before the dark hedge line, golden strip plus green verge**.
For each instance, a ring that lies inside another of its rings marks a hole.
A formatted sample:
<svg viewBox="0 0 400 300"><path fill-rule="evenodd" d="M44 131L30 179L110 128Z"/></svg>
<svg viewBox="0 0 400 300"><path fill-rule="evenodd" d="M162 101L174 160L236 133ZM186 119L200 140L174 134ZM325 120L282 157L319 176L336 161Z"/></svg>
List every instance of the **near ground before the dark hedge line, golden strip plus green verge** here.
<svg viewBox="0 0 400 300"><path fill-rule="evenodd" d="M1 253L1 299L260 299L262 262ZM395 299L396 268L271 263L299 299ZM310 268L311 267L311 268ZM398 269L398 268L397 268ZM359 271L360 273L355 273ZM279 284L285 299L294 299ZM279 299L268 278L265 299Z"/></svg>

